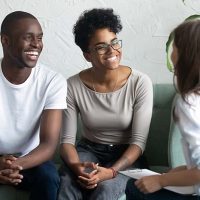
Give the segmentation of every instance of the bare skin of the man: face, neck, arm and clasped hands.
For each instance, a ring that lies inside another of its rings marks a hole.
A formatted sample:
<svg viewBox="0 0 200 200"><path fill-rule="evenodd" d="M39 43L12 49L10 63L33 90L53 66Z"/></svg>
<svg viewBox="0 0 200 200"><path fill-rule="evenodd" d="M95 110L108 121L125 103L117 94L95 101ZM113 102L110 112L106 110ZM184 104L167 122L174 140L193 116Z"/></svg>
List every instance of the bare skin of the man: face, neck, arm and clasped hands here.
<svg viewBox="0 0 200 200"><path fill-rule="evenodd" d="M17 28L16 28L17 27ZM21 84L35 67L43 48L42 29L33 18L17 20L12 32L1 35L4 57L2 71L8 81ZM22 169L32 168L49 160L56 149L61 125L61 110L44 110L41 114L40 144L23 157L0 157L0 183L17 185Z"/></svg>

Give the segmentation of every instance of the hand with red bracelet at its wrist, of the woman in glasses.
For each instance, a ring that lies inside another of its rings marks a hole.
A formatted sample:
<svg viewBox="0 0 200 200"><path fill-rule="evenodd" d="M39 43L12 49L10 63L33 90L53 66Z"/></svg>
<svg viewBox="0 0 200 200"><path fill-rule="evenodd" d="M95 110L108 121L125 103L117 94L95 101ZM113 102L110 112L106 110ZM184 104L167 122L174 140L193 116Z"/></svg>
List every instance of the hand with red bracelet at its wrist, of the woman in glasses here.
<svg viewBox="0 0 200 200"><path fill-rule="evenodd" d="M82 187L93 189L97 187L98 183L112 179L113 171L110 168L96 166L96 169L94 169L88 177L79 176L78 178L78 182Z"/></svg>

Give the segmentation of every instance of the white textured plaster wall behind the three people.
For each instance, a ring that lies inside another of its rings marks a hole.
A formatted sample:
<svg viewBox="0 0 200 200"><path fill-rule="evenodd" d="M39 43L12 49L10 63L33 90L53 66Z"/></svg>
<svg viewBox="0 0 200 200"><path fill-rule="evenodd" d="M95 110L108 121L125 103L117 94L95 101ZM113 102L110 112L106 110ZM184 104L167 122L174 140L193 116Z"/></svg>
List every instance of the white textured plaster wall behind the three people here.
<svg viewBox="0 0 200 200"><path fill-rule="evenodd" d="M35 15L44 31L40 62L67 78L90 66L74 43L72 27L84 10L95 7L112 7L121 16L122 64L147 73L154 83L172 82L165 43L176 25L200 13L200 0L1 0L0 23L15 10Z"/></svg>

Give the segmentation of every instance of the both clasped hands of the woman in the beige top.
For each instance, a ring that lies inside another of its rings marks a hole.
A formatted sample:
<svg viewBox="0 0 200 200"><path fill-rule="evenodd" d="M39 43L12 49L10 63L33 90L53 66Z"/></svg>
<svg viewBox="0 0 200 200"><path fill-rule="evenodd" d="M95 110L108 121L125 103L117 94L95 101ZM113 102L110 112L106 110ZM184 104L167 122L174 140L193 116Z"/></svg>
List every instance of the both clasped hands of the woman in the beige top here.
<svg viewBox="0 0 200 200"><path fill-rule="evenodd" d="M99 182L112 178L112 170L94 162L81 162L73 165L78 176L77 182L86 189L94 189Z"/></svg>

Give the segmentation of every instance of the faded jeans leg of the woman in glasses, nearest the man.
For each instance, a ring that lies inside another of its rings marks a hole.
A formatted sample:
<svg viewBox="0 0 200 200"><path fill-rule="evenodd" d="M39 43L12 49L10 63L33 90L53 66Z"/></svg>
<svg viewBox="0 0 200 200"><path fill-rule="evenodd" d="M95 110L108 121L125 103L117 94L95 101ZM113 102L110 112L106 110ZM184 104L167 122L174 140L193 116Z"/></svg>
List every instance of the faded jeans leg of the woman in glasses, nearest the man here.
<svg viewBox="0 0 200 200"><path fill-rule="evenodd" d="M93 153L88 152L82 147L77 147L77 152L82 162L99 162ZM84 198L83 194L85 191L77 183L77 176L66 165L63 165L60 169L60 180L58 200L80 200Z"/></svg>

